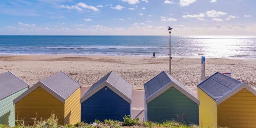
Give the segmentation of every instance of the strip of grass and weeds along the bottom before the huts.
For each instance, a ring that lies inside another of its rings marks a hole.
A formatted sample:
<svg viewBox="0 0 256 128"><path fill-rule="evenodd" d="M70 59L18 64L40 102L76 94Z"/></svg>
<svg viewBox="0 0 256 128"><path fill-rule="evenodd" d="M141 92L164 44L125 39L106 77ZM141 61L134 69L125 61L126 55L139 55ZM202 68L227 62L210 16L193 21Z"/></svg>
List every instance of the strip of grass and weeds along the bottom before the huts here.
<svg viewBox="0 0 256 128"><path fill-rule="evenodd" d="M169 121L166 120L162 123L154 123L154 122L140 122L139 118L132 119L130 115L124 116L124 122L120 122L117 120L104 120L103 122L99 120L95 120L92 124L87 124L84 122L78 122L74 125L66 124L65 126L58 124L58 119L54 114L47 120L36 120L34 118L34 124L32 126L24 125L24 120L18 120L17 125L14 127L6 126L0 124L0 128L202 128L197 125L186 125L181 122ZM211 128L211 127L205 127Z"/></svg>

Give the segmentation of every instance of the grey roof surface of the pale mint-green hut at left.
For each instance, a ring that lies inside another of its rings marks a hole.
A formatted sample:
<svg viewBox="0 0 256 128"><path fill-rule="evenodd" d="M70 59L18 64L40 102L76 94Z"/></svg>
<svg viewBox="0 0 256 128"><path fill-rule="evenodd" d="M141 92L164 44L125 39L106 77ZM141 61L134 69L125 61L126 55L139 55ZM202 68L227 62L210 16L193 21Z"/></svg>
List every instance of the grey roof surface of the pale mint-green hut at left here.
<svg viewBox="0 0 256 128"><path fill-rule="evenodd" d="M27 83L16 77L10 71L0 74L0 100L28 87L29 85Z"/></svg>

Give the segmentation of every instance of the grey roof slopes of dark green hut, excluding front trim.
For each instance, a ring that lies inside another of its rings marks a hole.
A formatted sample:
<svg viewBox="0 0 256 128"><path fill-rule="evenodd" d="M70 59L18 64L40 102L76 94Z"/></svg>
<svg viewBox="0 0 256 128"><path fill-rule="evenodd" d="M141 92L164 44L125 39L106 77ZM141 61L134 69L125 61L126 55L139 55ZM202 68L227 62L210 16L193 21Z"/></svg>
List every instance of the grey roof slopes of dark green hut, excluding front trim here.
<svg viewBox="0 0 256 128"><path fill-rule="evenodd" d="M160 89L162 89L171 82L175 83L176 85L193 95L185 85L183 85L174 77L166 73L166 71L162 71L162 73L158 74L156 77L144 84L146 98L154 95L156 92L158 92Z"/></svg>

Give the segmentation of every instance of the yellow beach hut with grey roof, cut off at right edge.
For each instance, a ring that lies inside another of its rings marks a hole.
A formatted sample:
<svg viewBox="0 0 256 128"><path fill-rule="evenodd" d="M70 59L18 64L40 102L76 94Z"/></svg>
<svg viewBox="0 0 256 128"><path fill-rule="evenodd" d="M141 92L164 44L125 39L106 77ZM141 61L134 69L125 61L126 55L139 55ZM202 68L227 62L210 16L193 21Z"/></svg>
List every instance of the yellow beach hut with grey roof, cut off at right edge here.
<svg viewBox="0 0 256 128"><path fill-rule="evenodd" d="M197 85L200 126L256 128L256 91L216 72Z"/></svg>

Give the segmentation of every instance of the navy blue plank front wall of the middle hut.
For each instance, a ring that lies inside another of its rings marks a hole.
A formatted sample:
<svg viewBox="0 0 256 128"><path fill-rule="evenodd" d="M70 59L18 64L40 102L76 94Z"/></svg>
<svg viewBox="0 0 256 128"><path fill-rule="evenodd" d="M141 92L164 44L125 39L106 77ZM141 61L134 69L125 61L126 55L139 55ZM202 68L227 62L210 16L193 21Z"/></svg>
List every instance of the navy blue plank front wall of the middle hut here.
<svg viewBox="0 0 256 128"><path fill-rule="evenodd" d="M108 87L103 87L81 104L81 121L90 123L98 119L120 120L130 115L131 106Z"/></svg>

